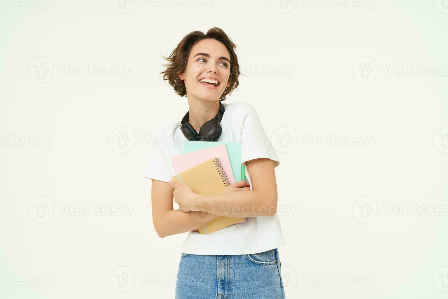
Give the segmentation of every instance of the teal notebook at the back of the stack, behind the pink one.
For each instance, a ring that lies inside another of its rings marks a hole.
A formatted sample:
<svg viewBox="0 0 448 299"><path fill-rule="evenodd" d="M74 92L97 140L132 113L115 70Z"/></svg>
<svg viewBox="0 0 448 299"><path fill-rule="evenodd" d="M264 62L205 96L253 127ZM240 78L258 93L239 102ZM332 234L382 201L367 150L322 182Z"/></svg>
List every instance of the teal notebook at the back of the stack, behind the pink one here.
<svg viewBox="0 0 448 299"><path fill-rule="evenodd" d="M246 168L241 164L241 142L185 141L185 153L225 144L235 182L246 180Z"/></svg>

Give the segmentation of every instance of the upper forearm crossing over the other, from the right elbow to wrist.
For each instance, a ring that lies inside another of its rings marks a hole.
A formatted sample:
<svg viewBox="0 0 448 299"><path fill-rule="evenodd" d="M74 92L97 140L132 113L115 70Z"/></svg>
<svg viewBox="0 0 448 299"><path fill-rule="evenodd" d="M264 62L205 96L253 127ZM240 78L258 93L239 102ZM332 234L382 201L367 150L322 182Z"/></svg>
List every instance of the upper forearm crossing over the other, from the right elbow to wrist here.
<svg viewBox="0 0 448 299"><path fill-rule="evenodd" d="M194 201L192 211L211 212L228 217L274 216L277 211L276 196L255 190L196 196L198 199Z"/></svg>

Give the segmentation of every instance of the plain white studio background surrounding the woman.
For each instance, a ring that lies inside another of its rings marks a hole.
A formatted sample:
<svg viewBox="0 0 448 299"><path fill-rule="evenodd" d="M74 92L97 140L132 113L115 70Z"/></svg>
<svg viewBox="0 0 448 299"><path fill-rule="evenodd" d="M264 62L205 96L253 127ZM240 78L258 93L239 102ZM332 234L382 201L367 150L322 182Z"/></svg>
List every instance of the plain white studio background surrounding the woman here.
<svg viewBox="0 0 448 299"><path fill-rule="evenodd" d="M186 234L157 236L142 177L188 110L161 55L218 26L245 74L226 102L280 160L286 298L446 298L448 1L173 1L0 0L0 297L174 298ZM115 72L65 73L90 64ZM65 210L89 204L115 214Z"/></svg>

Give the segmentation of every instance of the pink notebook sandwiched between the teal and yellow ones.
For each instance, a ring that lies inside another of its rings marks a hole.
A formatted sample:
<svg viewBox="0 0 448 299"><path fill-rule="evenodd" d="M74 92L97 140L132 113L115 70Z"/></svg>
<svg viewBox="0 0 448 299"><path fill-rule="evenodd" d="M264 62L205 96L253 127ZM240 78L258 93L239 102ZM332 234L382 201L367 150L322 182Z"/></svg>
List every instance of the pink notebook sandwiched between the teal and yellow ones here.
<svg viewBox="0 0 448 299"><path fill-rule="evenodd" d="M219 158L224 172L230 183L235 182L235 177L233 176L232 166L230 165L230 160L228 158L227 148L225 144L217 145L215 147L204 148L194 152L187 152L185 154L172 156L172 166L176 174L184 172L196 165L199 165L211 158Z"/></svg>

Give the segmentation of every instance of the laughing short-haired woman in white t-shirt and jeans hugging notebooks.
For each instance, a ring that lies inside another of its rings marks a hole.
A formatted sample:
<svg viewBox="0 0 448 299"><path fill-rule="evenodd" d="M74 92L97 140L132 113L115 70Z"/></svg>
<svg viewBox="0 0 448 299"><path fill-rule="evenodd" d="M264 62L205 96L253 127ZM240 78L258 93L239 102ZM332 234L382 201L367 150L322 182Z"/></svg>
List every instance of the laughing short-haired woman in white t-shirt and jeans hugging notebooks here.
<svg viewBox="0 0 448 299"><path fill-rule="evenodd" d="M161 73L178 95L187 96L189 107L182 121L159 132L164 142L153 147L144 174L152 180L157 234L163 238L189 232L177 274L178 299L284 298L277 248L285 243L276 214L274 171L280 162L252 105L221 103L238 86L235 48L220 28L211 28L207 34L191 32L166 58L168 64ZM217 126L207 130L204 127L210 120ZM185 129L186 121L190 130ZM207 197L172 182L176 173L170 157L183 153L181 141L187 139L241 142L241 161L249 182L235 182L223 194ZM173 208L173 196L179 209ZM213 214L207 212L207 200L215 204ZM219 216L246 217L246 222L211 234L194 231L203 225L204 217Z"/></svg>

